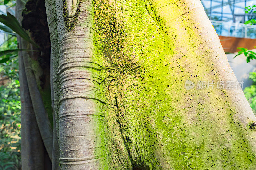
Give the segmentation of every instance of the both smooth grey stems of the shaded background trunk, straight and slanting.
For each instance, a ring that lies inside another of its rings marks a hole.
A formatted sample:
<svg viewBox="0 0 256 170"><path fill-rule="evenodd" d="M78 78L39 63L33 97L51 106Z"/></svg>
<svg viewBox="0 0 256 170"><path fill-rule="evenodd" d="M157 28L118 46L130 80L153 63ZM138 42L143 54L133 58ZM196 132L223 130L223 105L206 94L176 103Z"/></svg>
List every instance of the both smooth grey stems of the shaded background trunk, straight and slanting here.
<svg viewBox="0 0 256 170"><path fill-rule="evenodd" d="M24 2L17 0L16 17L20 24L23 20L22 12L24 9ZM17 35L17 39L19 49L33 49L20 36ZM23 169L47 170L52 169L52 129L37 86L40 82L36 82L35 70L32 70L32 63L35 64L36 61L33 62L31 58L36 55L36 53L28 51L19 52L19 80L22 103L21 162ZM36 69L39 72L38 70L41 68Z"/></svg>

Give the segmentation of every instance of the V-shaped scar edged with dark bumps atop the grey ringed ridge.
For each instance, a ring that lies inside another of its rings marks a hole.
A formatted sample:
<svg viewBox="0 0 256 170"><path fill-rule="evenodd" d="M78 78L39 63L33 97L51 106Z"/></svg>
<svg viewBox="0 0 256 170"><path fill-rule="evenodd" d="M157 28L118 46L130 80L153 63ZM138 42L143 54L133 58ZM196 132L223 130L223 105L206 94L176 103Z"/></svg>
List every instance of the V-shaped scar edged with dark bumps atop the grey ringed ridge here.
<svg viewBox="0 0 256 170"><path fill-rule="evenodd" d="M73 0L63 0L63 17L68 31L74 28L75 23L78 20L79 13L81 12L80 7L82 0L77 0L77 4L75 6L69 3L73 3Z"/></svg>

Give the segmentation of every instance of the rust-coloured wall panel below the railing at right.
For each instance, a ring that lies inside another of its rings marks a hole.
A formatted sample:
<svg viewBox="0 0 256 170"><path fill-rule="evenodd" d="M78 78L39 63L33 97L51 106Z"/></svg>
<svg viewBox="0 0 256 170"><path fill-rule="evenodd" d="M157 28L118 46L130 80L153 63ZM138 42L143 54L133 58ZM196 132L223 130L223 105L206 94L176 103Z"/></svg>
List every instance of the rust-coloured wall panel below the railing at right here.
<svg viewBox="0 0 256 170"><path fill-rule="evenodd" d="M256 39L250 38L237 38L237 37L224 37L219 36L222 47L225 52L234 53L239 51L237 47L243 47L247 49L254 49L256 46Z"/></svg>

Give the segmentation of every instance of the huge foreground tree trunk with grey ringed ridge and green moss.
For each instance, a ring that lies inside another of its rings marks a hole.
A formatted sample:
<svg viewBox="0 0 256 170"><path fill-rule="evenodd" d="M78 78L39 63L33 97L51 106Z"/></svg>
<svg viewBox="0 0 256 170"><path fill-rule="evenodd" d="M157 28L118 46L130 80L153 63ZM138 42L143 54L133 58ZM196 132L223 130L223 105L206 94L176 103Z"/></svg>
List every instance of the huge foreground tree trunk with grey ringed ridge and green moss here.
<svg viewBox="0 0 256 170"><path fill-rule="evenodd" d="M256 118L216 88L237 80L199 0L45 2L53 169L256 168Z"/></svg>

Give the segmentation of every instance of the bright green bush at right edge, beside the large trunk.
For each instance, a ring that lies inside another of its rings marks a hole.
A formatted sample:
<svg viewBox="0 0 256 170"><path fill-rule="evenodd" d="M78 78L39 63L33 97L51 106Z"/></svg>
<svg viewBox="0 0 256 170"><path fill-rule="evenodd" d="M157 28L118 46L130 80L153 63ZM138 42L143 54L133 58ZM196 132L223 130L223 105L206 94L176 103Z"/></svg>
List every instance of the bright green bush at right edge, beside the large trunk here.
<svg viewBox="0 0 256 170"><path fill-rule="evenodd" d="M249 78L252 79L253 85L245 87L244 95L250 103L253 113L256 114L256 72L251 72Z"/></svg>

